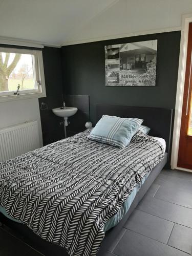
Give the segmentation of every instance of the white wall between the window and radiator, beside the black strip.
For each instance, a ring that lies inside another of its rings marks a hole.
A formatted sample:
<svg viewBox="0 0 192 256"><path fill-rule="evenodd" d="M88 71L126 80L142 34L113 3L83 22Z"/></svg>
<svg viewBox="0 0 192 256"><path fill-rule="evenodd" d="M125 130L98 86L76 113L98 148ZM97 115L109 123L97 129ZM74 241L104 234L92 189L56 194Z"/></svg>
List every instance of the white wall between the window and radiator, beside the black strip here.
<svg viewBox="0 0 192 256"><path fill-rule="evenodd" d="M15 100L0 103L0 129L26 121L37 120L40 144L42 131L38 99Z"/></svg>

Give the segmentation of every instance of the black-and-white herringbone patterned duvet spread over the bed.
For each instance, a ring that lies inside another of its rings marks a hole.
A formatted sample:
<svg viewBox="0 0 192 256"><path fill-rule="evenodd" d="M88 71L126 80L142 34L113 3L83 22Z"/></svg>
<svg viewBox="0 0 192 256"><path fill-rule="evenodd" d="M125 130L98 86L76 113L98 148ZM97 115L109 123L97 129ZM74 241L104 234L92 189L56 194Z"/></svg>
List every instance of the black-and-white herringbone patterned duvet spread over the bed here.
<svg viewBox="0 0 192 256"><path fill-rule="evenodd" d="M105 223L164 156L142 132L123 149L91 141L89 133L0 163L0 205L73 256L97 254Z"/></svg>

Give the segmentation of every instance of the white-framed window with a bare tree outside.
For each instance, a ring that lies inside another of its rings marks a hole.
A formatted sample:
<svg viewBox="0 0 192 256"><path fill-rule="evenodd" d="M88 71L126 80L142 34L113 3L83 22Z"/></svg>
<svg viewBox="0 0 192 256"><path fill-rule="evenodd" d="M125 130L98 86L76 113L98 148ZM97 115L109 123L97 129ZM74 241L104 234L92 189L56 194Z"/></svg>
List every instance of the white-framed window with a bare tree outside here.
<svg viewBox="0 0 192 256"><path fill-rule="evenodd" d="M0 101L45 96L42 52L0 48Z"/></svg>

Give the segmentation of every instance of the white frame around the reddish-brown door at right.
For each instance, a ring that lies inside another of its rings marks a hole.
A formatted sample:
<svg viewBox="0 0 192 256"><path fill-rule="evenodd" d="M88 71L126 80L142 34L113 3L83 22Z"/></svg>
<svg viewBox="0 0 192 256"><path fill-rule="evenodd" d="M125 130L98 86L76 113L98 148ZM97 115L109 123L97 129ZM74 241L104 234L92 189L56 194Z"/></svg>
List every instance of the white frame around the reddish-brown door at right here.
<svg viewBox="0 0 192 256"><path fill-rule="evenodd" d="M178 161L178 152L179 152L179 138L180 138L183 94L184 94L184 84L185 84L188 27L189 27L189 23L191 22L192 22L192 13L182 15L179 69L178 69L177 94L176 94L176 104L175 104L173 143L172 143L172 158L170 162L172 169L186 170L188 172L192 172L192 170L178 167L177 161Z"/></svg>

